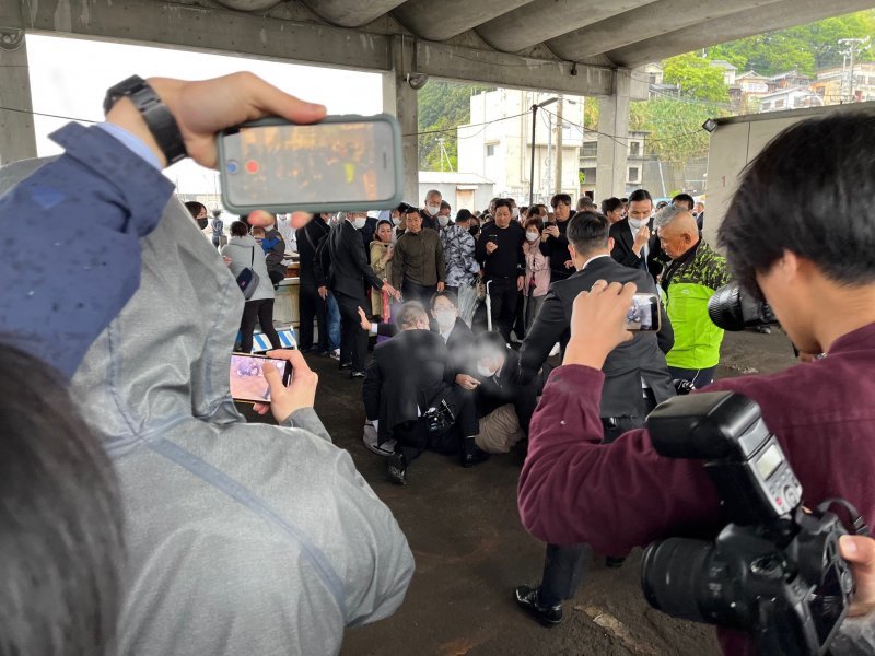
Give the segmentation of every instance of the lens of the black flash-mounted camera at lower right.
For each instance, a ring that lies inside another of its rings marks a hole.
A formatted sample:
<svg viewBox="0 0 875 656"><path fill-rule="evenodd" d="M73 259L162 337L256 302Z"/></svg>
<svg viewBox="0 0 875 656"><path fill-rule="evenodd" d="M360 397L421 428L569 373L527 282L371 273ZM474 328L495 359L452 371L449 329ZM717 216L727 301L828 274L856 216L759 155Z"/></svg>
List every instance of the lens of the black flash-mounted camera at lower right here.
<svg viewBox="0 0 875 656"><path fill-rule="evenodd" d="M670 538L644 551L641 587L653 608L693 622L709 622L699 610L700 577L713 544Z"/></svg>

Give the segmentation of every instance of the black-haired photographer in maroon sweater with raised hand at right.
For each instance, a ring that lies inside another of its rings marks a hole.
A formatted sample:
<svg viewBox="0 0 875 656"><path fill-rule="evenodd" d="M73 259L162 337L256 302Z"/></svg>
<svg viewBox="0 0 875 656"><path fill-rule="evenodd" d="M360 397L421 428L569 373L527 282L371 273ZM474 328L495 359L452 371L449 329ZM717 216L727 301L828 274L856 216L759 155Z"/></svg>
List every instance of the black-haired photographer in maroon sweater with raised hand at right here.
<svg viewBox="0 0 875 656"><path fill-rule="evenodd" d="M835 144L853 144L836 149ZM759 403L804 489L807 505L843 497L875 524L875 116L796 124L747 169L720 229L736 279L771 304L803 352L827 353L768 376L718 380ZM805 189L801 195L800 189ZM588 542L602 553L690 529L722 526L701 461L654 450L645 429L600 444L607 354L634 285L598 281L574 302L563 366L544 390L518 488L520 515L537 538ZM724 653L752 654L720 631Z"/></svg>

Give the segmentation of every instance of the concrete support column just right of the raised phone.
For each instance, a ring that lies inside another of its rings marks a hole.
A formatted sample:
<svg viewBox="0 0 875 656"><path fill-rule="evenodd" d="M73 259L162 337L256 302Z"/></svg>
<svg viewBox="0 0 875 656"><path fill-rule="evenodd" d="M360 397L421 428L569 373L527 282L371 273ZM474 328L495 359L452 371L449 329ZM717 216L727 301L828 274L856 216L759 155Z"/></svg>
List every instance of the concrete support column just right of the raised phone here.
<svg viewBox="0 0 875 656"><path fill-rule="evenodd" d="M413 44L409 37L396 35L392 42L393 70L383 73L383 112L393 114L401 124L404 156L404 199L419 207L419 122L417 92L407 83L413 72Z"/></svg>

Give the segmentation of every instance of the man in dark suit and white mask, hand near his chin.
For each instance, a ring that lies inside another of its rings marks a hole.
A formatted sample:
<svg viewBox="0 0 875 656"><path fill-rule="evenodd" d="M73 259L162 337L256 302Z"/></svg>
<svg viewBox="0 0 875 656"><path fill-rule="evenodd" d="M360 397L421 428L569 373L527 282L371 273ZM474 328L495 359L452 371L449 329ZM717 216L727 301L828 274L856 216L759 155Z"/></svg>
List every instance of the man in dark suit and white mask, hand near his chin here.
<svg viewBox="0 0 875 656"><path fill-rule="evenodd" d="M626 219L610 226L610 257L625 267L649 271L654 280L662 271L660 239L653 232L653 198L646 189L629 197Z"/></svg>

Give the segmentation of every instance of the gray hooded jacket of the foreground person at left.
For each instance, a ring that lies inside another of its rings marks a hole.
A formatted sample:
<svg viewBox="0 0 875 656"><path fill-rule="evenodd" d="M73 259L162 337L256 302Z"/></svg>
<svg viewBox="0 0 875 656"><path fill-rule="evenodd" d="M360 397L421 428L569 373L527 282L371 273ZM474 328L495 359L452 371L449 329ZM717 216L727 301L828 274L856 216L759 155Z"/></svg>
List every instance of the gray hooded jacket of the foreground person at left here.
<svg viewBox="0 0 875 656"><path fill-rule="evenodd" d="M124 495L118 652L336 654L345 625L398 608L413 559L313 410L291 418L298 427L237 413L229 367L244 298L199 232L172 199L143 241L139 291L72 382Z"/></svg>

